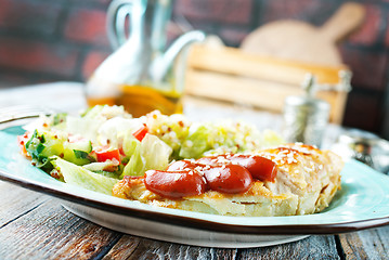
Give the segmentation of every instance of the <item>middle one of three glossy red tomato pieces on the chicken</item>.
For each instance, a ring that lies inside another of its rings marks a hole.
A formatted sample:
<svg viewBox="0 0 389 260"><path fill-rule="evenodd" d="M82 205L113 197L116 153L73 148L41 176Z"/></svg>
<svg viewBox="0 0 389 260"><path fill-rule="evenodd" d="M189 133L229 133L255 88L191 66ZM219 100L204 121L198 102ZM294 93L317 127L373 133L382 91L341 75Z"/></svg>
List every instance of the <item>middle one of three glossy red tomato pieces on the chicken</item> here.
<svg viewBox="0 0 389 260"><path fill-rule="evenodd" d="M244 193L252 183L251 174L238 165L222 165L204 168L209 188L222 193Z"/></svg>

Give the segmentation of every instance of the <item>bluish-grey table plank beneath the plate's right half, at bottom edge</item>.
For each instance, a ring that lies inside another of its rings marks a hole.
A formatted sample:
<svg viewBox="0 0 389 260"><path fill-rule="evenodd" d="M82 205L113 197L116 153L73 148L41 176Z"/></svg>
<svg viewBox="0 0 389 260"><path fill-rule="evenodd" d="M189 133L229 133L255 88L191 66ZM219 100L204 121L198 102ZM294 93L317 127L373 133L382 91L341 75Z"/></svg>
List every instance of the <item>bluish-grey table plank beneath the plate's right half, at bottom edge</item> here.
<svg viewBox="0 0 389 260"><path fill-rule="evenodd" d="M315 235L306 239L256 249L242 249L239 259L340 259L334 235Z"/></svg>

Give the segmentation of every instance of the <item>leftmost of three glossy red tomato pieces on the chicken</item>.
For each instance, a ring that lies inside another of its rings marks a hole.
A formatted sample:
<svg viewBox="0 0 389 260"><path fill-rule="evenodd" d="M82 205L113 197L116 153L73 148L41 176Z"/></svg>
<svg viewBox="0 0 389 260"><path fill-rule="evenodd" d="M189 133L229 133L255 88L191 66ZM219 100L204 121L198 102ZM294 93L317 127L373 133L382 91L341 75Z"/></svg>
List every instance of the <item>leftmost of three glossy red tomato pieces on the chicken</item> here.
<svg viewBox="0 0 389 260"><path fill-rule="evenodd" d="M196 171L147 170L144 173L147 190L170 198L199 195L206 190L204 178Z"/></svg>

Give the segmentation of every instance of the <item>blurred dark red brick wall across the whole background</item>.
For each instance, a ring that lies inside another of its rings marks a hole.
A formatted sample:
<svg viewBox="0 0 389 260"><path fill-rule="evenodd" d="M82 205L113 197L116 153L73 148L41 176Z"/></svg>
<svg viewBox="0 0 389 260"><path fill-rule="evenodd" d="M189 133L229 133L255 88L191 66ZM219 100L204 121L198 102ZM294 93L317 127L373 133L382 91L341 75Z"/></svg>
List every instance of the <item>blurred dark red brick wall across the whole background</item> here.
<svg viewBox="0 0 389 260"><path fill-rule="evenodd" d="M0 0L0 88L85 81L111 53L105 11L111 0ZM340 0L176 0L169 38L181 27L219 35L238 47L258 26L295 18L322 25ZM353 72L343 125L382 133L388 96L389 1L361 0L362 28L339 50Z"/></svg>

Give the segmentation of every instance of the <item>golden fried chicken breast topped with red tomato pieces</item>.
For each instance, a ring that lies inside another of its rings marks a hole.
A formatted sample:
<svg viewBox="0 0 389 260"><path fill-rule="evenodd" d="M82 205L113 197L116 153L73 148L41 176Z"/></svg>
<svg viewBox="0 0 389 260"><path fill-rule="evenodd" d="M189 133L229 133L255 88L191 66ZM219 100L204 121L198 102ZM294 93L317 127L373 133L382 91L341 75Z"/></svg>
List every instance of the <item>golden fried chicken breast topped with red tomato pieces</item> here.
<svg viewBox="0 0 389 260"><path fill-rule="evenodd" d="M296 143L259 151L257 154L276 164L276 177L274 181L254 180L244 193L207 191L200 195L172 199L148 191L143 178L125 177L114 186L113 195L158 207L197 212L274 217L320 212L340 188L343 162L330 151Z"/></svg>

